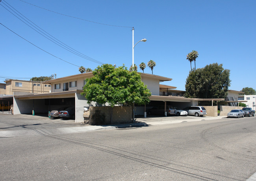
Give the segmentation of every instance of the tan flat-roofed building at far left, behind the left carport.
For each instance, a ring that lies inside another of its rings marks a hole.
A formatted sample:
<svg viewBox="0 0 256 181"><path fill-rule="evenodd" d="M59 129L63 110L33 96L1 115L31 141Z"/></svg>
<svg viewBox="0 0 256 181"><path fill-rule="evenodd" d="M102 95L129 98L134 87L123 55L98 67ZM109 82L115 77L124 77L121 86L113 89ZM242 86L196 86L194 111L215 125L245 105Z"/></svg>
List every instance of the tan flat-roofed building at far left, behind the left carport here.
<svg viewBox="0 0 256 181"><path fill-rule="evenodd" d="M46 93L50 92L51 85L40 81L6 80L6 94L13 95L14 92Z"/></svg>

